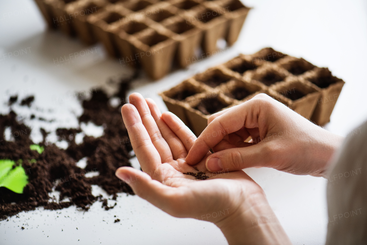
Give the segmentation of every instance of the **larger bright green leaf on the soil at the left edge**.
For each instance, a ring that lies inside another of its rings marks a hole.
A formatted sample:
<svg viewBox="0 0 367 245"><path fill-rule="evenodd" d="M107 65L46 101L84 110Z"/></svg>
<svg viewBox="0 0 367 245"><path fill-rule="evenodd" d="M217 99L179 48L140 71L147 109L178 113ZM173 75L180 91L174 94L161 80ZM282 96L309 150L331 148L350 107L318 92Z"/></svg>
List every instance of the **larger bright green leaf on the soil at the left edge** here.
<svg viewBox="0 0 367 245"><path fill-rule="evenodd" d="M28 176L22 166L13 168L14 164L12 160L0 160L0 187L21 194L28 184Z"/></svg>

